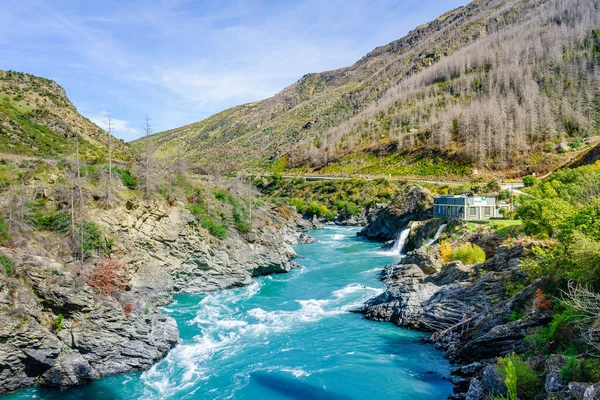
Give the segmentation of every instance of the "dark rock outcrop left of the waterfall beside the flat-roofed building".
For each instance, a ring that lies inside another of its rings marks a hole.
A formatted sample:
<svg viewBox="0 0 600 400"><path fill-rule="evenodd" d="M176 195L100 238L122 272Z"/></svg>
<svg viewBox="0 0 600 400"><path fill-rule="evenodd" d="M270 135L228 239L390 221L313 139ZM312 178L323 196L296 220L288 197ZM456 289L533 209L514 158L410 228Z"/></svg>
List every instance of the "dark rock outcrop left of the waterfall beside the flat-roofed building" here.
<svg viewBox="0 0 600 400"><path fill-rule="evenodd" d="M431 217L433 194L418 185L407 185L387 207L381 208L360 236L374 240L393 240L410 221Z"/></svg>

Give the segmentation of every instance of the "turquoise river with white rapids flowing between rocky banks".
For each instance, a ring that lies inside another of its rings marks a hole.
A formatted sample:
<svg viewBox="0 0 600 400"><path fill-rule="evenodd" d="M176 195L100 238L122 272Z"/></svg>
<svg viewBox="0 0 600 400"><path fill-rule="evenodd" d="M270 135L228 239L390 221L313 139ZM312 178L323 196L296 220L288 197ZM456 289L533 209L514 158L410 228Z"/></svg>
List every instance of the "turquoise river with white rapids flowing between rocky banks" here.
<svg viewBox="0 0 600 400"><path fill-rule="evenodd" d="M295 247L302 267L289 274L177 296L163 310L181 344L149 371L2 400L445 399L450 365L422 333L350 312L382 292L381 269L396 258L355 232L311 232L319 242Z"/></svg>

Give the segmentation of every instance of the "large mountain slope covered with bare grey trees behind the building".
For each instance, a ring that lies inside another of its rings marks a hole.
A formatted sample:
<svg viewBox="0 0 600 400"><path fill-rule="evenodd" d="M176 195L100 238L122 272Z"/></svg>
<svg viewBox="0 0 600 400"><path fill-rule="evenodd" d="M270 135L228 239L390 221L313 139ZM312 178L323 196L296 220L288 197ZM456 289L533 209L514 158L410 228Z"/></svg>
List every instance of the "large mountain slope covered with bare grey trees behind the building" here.
<svg viewBox="0 0 600 400"><path fill-rule="evenodd" d="M475 1L151 140L166 160L220 169L544 172L598 127L599 14L598 1Z"/></svg>

